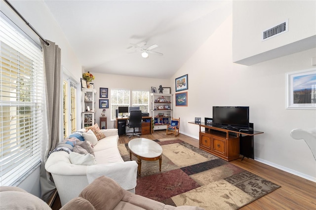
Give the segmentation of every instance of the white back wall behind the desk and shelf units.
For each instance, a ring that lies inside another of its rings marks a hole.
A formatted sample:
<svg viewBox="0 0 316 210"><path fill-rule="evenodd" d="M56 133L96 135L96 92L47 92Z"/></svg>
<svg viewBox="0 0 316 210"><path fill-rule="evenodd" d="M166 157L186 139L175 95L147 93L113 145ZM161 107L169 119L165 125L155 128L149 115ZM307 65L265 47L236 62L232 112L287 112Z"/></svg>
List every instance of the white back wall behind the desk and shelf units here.
<svg viewBox="0 0 316 210"><path fill-rule="evenodd" d="M122 76L122 75L114 75L114 74L103 74L103 73L95 73L90 72L95 76L95 79L92 81L94 83L96 93L96 122L99 124L99 117L101 116L102 109L99 108L99 99L100 99L100 87L101 88L109 88L109 108L105 112L107 117L107 128L114 128L114 122L111 122L111 88L121 88L121 89L129 89L140 90L140 91L149 91L152 92L151 87L156 87L158 91L159 85L162 87L170 87L169 79L155 79L155 78L145 78L145 77L133 77L133 76ZM175 87L171 87L171 90L174 90ZM105 99L105 98L102 98Z"/></svg>

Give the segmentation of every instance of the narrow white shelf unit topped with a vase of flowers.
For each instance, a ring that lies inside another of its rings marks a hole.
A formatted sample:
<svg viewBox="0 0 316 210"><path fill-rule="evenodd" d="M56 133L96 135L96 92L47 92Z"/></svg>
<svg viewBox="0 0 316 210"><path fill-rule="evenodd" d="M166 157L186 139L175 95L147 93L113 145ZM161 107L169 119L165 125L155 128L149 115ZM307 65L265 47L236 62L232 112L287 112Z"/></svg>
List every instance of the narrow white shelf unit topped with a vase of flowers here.
<svg viewBox="0 0 316 210"><path fill-rule="evenodd" d="M82 128L94 125L95 120L95 94L92 88L82 88ZM90 108L88 111L87 107Z"/></svg>

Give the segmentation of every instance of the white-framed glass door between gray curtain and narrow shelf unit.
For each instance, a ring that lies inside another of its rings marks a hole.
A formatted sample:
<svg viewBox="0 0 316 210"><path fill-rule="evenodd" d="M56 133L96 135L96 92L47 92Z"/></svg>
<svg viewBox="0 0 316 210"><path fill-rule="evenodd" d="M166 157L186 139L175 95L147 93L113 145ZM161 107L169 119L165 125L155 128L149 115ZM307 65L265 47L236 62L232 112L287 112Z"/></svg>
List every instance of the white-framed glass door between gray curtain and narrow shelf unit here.
<svg viewBox="0 0 316 210"><path fill-rule="evenodd" d="M77 85L68 78L63 81L63 125L64 138L77 130L76 122Z"/></svg>

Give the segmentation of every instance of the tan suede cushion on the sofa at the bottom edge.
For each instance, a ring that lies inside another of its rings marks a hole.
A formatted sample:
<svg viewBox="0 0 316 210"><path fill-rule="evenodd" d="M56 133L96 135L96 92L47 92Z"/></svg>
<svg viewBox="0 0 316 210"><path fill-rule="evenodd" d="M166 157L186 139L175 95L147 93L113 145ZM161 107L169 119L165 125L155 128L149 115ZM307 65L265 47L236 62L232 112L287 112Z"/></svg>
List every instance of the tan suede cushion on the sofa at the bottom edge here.
<svg viewBox="0 0 316 210"><path fill-rule="evenodd" d="M113 179L100 176L85 187L79 197L88 200L96 210L113 210L124 196L122 189ZM106 194L107 196L100 196Z"/></svg>

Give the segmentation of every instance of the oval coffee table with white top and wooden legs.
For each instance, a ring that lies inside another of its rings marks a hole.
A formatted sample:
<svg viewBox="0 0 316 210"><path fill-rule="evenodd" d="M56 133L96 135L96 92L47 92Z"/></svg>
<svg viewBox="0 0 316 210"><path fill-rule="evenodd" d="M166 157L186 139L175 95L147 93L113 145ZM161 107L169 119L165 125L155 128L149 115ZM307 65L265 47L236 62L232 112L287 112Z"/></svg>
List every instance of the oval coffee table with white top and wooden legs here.
<svg viewBox="0 0 316 210"><path fill-rule="evenodd" d="M132 154L137 157L138 175L141 173L142 160L159 160L159 172L161 172L162 147L153 140L137 138L128 142L129 158L132 160Z"/></svg>

